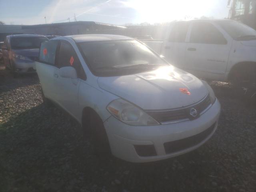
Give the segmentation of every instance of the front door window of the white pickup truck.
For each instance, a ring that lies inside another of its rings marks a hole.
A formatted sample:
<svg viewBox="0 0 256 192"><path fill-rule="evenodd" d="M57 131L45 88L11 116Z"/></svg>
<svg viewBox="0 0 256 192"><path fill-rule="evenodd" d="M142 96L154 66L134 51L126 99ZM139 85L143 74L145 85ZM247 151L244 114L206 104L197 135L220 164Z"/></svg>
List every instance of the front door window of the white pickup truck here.
<svg viewBox="0 0 256 192"><path fill-rule="evenodd" d="M221 32L214 25L207 22L193 23L190 42L203 44L227 44L227 40Z"/></svg>

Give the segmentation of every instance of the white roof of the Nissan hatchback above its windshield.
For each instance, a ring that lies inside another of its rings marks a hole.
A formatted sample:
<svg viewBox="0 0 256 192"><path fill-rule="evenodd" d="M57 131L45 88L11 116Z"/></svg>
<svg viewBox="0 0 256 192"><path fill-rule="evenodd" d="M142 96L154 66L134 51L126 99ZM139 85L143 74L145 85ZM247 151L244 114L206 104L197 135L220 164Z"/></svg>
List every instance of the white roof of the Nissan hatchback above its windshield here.
<svg viewBox="0 0 256 192"><path fill-rule="evenodd" d="M133 38L122 36L122 35L107 35L107 34L72 35L67 37L72 38L77 43L88 42L88 41L111 41L111 40L132 40L133 39Z"/></svg>

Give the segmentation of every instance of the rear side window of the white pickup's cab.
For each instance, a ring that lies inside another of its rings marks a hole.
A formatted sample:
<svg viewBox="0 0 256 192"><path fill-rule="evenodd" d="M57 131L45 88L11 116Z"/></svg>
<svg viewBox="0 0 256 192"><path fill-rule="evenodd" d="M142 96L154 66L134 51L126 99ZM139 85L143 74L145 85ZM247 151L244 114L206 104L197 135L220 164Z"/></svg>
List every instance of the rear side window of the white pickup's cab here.
<svg viewBox="0 0 256 192"><path fill-rule="evenodd" d="M185 42L188 33L188 22L177 22L171 29L169 42Z"/></svg>

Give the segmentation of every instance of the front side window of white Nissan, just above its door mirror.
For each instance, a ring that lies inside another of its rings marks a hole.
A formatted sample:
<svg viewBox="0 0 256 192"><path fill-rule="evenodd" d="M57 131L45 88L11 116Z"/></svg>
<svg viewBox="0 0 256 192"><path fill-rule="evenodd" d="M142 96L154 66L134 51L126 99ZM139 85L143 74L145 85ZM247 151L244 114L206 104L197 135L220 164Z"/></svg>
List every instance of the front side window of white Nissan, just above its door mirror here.
<svg viewBox="0 0 256 192"><path fill-rule="evenodd" d="M68 42L61 41L58 55L58 68L72 66L76 69L79 78L85 80L84 69L76 55L75 50Z"/></svg>

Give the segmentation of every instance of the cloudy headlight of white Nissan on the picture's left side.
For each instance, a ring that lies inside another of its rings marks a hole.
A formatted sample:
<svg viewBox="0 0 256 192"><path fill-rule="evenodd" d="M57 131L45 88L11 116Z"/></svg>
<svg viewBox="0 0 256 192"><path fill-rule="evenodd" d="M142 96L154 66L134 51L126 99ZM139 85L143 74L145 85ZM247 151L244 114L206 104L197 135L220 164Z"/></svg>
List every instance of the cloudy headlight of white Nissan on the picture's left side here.
<svg viewBox="0 0 256 192"><path fill-rule="evenodd" d="M143 110L122 99L110 102L107 109L114 117L128 125L146 126L159 124Z"/></svg>

